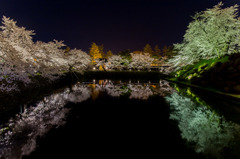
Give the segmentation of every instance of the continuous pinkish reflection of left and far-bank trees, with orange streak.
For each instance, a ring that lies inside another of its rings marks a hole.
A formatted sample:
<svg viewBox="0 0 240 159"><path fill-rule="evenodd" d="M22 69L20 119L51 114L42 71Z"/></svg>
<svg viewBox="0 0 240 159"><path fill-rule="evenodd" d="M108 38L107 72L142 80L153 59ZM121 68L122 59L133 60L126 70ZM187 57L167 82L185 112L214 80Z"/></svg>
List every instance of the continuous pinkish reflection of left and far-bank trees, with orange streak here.
<svg viewBox="0 0 240 159"><path fill-rule="evenodd" d="M0 125L0 158L20 159L23 155L30 154L36 148L38 136L43 136L53 127L65 124L64 118L70 108L64 106L68 102L80 103L90 98L94 92L97 98L101 91L113 97L127 94L131 99L146 100L162 90L159 86L152 87L153 83L144 86L139 81L137 84L114 84L111 80L101 81L100 84L96 80L92 82L94 84L77 83L71 89L45 97L36 106L25 107L21 114ZM169 85L168 87L168 90L171 90Z"/></svg>

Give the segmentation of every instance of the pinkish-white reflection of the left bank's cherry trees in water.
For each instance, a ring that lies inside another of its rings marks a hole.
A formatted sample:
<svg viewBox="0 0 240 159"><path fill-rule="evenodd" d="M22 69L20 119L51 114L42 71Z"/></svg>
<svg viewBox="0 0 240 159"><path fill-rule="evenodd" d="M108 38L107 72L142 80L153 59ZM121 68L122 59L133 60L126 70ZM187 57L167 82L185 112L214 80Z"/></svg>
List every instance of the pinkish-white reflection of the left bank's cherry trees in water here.
<svg viewBox="0 0 240 159"><path fill-rule="evenodd" d="M65 124L69 112L64 108L68 102L80 103L90 97L90 89L74 85L72 92L63 92L45 97L36 106L25 108L0 129L0 158L20 159L36 148L38 136L44 136L51 128Z"/></svg>

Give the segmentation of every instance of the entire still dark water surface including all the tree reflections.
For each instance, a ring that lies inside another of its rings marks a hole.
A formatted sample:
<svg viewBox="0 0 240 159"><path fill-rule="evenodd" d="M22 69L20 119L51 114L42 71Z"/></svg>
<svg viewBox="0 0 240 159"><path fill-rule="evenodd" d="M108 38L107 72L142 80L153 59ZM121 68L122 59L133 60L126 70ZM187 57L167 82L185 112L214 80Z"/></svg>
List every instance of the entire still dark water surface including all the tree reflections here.
<svg viewBox="0 0 240 159"><path fill-rule="evenodd" d="M1 123L0 157L238 159L239 106L164 80L76 83Z"/></svg>

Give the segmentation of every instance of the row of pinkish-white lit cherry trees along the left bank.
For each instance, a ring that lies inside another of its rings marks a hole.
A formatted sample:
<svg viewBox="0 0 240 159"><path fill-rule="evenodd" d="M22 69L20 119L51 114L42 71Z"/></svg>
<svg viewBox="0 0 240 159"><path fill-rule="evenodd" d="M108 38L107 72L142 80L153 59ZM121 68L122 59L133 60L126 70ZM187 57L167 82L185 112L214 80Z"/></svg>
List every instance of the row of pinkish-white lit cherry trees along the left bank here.
<svg viewBox="0 0 240 159"><path fill-rule="evenodd" d="M0 26L0 91L18 90L16 83L29 84L30 76L41 75L54 81L64 72L83 72L88 68L90 56L77 49L68 54L62 49L63 41L48 43L32 41L35 34L19 27L16 21L3 16Z"/></svg>

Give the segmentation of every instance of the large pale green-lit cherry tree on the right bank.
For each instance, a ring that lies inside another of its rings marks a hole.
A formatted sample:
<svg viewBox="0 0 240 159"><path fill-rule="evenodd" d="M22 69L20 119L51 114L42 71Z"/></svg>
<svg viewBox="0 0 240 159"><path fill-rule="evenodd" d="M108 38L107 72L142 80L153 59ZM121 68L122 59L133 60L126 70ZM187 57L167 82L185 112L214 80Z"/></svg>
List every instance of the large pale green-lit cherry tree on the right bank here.
<svg viewBox="0 0 240 159"><path fill-rule="evenodd" d="M170 63L181 67L201 59L220 58L240 51L238 5L222 6L220 2L193 16L183 42L174 45L178 55L170 59Z"/></svg>

